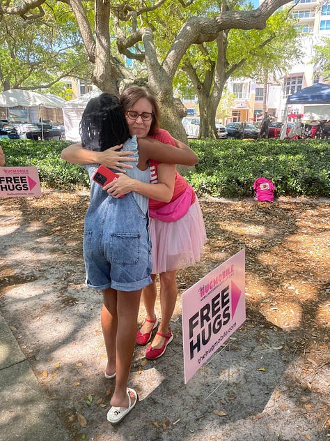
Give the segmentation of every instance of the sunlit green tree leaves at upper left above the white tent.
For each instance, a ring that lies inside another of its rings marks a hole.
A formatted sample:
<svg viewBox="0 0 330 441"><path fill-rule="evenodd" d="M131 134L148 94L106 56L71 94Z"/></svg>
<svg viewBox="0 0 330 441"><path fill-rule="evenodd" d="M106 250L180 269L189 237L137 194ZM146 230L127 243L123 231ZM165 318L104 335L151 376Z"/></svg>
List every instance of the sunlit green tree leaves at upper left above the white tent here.
<svg viewBox="0 0 330 441"><path fill-rule="evenodd" d="M0 28L1 89L47 87L56 94L63 76L90 77L74 15L65 3L44 5L35 20L5 15Z"/></svg>

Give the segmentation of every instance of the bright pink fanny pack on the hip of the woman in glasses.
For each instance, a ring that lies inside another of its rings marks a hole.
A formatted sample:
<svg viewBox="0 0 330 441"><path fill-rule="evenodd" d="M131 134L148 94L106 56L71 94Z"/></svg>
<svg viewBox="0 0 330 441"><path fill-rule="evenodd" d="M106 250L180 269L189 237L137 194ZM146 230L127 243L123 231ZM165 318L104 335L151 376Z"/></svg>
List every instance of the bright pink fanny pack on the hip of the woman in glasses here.
<svg viewBox="0 0 330 441"><path fill-rule="evenodd" d="M187 185L182 195L175 200L168 202L164 207L157 209L149 209L150 218L158 219L163 222L175 222L181 219L184 214L187 214L191 205L191 200L194 196L194 190Z"/></svg>

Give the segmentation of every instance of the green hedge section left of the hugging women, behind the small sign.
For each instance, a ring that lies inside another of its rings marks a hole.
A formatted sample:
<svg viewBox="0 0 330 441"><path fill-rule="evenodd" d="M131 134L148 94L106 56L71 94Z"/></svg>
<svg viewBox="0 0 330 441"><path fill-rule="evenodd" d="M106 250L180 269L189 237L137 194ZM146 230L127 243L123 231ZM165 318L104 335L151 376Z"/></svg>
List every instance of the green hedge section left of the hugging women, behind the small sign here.
<svg viewBox="0 0 330 441"><path fill-rule="evenodd" d="M88 187L84 168L61 159L61 151L70 144L70 141L1 140L6 166L37 167L42 186L66 190Z"/></svg>

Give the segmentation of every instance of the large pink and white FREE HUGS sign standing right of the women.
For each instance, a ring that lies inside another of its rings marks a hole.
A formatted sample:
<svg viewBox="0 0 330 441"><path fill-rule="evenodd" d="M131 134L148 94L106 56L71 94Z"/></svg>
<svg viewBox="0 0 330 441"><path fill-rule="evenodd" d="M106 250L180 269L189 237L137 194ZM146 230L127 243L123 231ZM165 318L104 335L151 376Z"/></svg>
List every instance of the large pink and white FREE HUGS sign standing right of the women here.
<svg viewBox="0 0 330 441"><path fill-rule="evenodd" d="M245 250L182 294L184 382L245 322Z"/></svg>

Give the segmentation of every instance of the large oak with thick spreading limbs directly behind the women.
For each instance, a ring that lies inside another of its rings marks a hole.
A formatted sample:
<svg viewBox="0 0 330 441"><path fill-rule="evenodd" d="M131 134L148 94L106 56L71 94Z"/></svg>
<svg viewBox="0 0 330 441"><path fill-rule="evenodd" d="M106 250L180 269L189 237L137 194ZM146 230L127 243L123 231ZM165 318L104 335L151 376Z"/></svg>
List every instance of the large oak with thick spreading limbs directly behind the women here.
<svg viewBox="0 0 330 441"><path fill-rule="evenodd" d="M187 49L194 44L215 41L228 29L264 29L267 19L289 1L265 0L256 10L237 10L237 1L223 1L218 10L214 8L214 13L209 8L205 15L192 15L178 30L162 59L159 59L155 45L154 29L147 26L147 17L148 13L166 4L170 13L164 20L175 20L171 15L175 1L110 3L108 0L95 0L94 22L88 14L88 8L93 3L81 0L63 0L61 3L67 3L74 13L88 59L95 64L94 84L102 91L118 93L124 79L134 80L131 71L111 50L111 38L116 37L120 54L146 62L148 83L157 92L162 105L164 127L184 137L178 118L180 109L173 98L173 77ZM194 3L178 2L183 8L189 8ZM23 3L7 0L0 5L0 19L3 15L19 15L24 20L35 20L44 14L45 3L45 0L25 0ZM110 20L113 20L111 29Z"/></svg>

